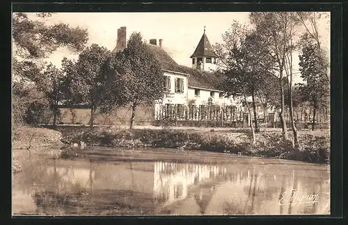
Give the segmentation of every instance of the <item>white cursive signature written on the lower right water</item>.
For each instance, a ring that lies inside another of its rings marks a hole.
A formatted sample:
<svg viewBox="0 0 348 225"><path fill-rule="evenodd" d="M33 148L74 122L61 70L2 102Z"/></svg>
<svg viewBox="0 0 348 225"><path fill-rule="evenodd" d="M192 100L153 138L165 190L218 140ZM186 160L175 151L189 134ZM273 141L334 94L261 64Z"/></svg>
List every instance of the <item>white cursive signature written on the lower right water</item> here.
<svg viewBox="0 0 348 225"><path fill-rule="evenodd" d="M279 206L284 205L299 205L312 203L313 205L318 202L318 194L307 194L304 192L299 192L296 189L291 190L291 192L283 192L278 201Z"/></svg>

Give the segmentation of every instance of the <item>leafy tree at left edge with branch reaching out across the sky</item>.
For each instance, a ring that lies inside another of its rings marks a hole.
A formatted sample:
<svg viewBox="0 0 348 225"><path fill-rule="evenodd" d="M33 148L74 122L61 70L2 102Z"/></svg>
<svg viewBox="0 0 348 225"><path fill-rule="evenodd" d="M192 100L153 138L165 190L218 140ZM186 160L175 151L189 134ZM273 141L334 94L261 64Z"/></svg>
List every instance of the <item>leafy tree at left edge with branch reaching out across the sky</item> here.
<svg viewBox="0 0 348 225"><path fill-rule="evenodd" d="M38 13L38 17L50 17ZM42 58L58 47L77 52L88 40L86 29L58 23L48 26L40 19L29 19L25 13L13 14L13 123L39 119L49 106L49 79L43 74Z"/></svg>

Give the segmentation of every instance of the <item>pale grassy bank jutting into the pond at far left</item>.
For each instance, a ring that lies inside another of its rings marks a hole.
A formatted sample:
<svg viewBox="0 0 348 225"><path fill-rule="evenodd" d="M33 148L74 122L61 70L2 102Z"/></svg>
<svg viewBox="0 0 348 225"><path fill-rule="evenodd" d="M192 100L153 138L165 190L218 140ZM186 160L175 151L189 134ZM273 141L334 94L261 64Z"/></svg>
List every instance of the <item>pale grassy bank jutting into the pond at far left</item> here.
<svg viewBox="0 0 348 225"><path fill-rule="evenodd" d="M48 128L31 126L19 127L12 142L13 172L22 171L22 161L36 158L38 155L59 156L62 134Z"/></svg>

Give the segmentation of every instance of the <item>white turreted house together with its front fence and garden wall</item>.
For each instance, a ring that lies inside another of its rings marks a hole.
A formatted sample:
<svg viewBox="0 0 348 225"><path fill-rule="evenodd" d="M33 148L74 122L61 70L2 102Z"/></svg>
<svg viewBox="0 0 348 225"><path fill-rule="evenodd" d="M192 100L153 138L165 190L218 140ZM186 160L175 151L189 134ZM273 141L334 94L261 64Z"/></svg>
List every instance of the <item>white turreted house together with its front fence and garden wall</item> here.
<svg viewBox="0 0 348 225"><path fill-rule="evenodd" d="M117 45L112 52L123 51L126 41L126 27L122 26L118 29ZM135 125L158 125L163 119L174 120L178 126L250 125L251 117L242 94L227 93L219 89L223 78L214 73L217 56L205 32L193 54L187 56L187 60L192 60L189 67L177 64L164 50L163 40L158 41L157 45L157 39L151 39L148 47L161 65L165 95L155 102L155 106L137 107ZM251 97L247 97L247 101L251 103ZM256 110L259 119L267 118L269 109L264 110L258 103ZM97 113L94 122L126 125L132 116L130 112L129 106L122 106L112 115ZM62 117L58 121L63 124L88 124L89 113L88 106L62 106Z"/></svg>

